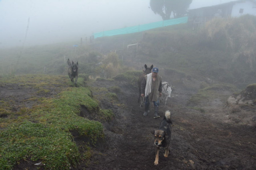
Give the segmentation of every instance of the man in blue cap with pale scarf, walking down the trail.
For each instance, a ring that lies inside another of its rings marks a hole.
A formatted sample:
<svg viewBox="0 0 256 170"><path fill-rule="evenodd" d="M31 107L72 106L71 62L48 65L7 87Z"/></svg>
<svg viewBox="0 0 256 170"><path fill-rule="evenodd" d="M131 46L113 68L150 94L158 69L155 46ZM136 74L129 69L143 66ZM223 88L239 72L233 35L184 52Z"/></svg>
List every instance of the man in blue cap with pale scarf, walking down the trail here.
<svg viewBox="0 0 256 170"><path fill-rule="evenodd" d="M162 96L162 77L158 75L158 68L154 67L150 74L144 76L141 83L141 96L145 97L145 112L143 115L148 115L150 102L153 102L154 119L160 117L158 115L158 98Z"/></svg>

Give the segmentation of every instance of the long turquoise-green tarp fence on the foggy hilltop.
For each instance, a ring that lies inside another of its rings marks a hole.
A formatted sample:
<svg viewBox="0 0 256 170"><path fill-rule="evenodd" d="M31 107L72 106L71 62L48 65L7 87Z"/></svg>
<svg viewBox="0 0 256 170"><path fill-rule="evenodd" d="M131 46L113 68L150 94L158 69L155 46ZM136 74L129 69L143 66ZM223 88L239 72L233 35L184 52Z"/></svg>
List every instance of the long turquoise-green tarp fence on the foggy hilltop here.
<svg viewBox="0 0 256 170"><path fill-rule="evenodd" d="M164 21L158 21L153 23L147 23L144 25L136 25L133 27L125 27L120 29L113 29L110 31L102 31L98 33L94 33L94 38L98 37L105 37L105 36L113 36L113 35L121 35L121 34L129 34L129 33L136 33L140 31L146 31L148 29L154 29L159 27L164 27L168 25L176 25L180 23L187 23L188 17L182 17L182 18L175 18L172 20L164 20Z"/></svg>

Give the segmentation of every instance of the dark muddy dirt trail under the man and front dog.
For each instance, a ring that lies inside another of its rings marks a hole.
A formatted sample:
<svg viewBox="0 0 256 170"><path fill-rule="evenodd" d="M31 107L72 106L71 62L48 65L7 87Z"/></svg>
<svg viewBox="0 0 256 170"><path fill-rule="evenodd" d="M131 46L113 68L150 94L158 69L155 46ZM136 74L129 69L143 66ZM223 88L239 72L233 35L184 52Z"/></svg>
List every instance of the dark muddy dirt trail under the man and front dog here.
<svg viewBox="0 0 256 170"><path fill-rule="evenodd" d="M172 83L168 75L162 77ZM223 98L228 98L231 92L217 90L220 97L204 101L204 111L200 111L187 105L196 89L187 88L186 81L194 82L191 87L196 86L196 81L191 80L172 83L171 98L166 106L160 105L158 119L153 119L152 106L148 116L142 115L144 109L137 103L138 89L127 82L96 82L94 86L106 88L118 84L122 92L117 93L118 102L114 104L100 101L101 107L112 109L116 117L105 124L105 140L94 147L90 164L80 164L78 169L254 169L256 129L242 123L242 111L232 112L225 107ZM160 150L159 164L155 166L151 132L159 127L166 110L171 111L173 122L170 152L165 158Z"/></svg>

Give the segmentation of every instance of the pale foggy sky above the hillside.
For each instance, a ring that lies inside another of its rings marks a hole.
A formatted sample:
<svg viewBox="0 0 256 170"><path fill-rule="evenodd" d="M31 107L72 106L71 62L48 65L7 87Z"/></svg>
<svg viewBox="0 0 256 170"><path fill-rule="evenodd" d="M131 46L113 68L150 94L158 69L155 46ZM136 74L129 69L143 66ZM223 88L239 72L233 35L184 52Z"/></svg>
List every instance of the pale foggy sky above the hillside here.
<svg viewBox="0 0 256 170"><path fill-rule="evenodd" d="M232 0L193 0L190 9ZM80 41L93 33L162 21L150 0L0 0L0 47Z"/></svg>

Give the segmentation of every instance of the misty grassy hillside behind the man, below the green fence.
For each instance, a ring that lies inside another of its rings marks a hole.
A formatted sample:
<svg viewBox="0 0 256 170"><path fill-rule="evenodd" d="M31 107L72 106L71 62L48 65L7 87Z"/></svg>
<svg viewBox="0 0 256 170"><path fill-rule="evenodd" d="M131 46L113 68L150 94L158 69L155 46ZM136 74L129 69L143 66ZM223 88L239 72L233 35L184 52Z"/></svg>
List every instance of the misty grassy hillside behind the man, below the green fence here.
<svg viewBox="0 0 256 170"><path fill-rule="evenodd" d="M79 61L80 73L94 77L106 78L108 73L110 78L127 69L133 70L130 62L151 62L190 76L200 75L246 87L256 78L255 32L256 18L243 16L217 18L194 30L180 24L143 33L102 37L95 39L94 45L73 47L71 42L1 49L0 75L65 75L66 60L70 58ZM127 45L134 43L139 43L138 49L136 46L127 49ZM115 57L119 61L113 67ZM102 65L98 65L100 62Z"/></svg>

